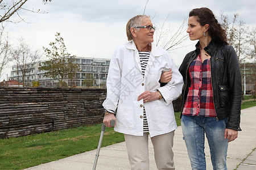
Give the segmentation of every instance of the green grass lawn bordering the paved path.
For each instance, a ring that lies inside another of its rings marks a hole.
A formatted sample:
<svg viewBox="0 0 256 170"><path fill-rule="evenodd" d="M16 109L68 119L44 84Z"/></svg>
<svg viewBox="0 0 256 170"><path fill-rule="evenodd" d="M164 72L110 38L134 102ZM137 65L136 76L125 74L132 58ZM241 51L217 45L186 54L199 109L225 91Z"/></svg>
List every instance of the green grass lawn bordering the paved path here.
<svg viewBox="0 0 256 170"><path fill-rule="evenodd" d="M242 109L255 105L256 101L243 101ZM180 126L180 112L175 113L175 117ZM24 169L94 150L98 146L100 132L101 124L98 124L0 139L0 169ZM102 147L123 141L123 134L106 128Z"/></svg>

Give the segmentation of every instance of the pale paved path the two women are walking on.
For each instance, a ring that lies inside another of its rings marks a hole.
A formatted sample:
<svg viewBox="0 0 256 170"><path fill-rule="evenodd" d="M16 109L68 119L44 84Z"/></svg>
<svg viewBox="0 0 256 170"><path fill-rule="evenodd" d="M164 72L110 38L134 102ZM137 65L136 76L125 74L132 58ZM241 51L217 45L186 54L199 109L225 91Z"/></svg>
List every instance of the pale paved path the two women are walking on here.
<svg viewBox="0 0 256 170"><path fill-rule="evenodd" d="M238 138L229 143L227 166L228 169L252 170L256 169L256 107L243 109L241 111L241 128ZM177 170L191 169L185 142L183 141L181 127L175 131L174 152L175 167ZM149 140L150 141L150 140ZM207 142L205 142L207 143ZM150 143L150 169L156 169L152 144ZM70 156L54 162L38 165L27 170L64 170L64 169L92 169L96 150L84 152L82 154ZM205 145L207 159L207 169L212 169L210 163L209 146ZM246 158L246 159L245 159ZM243 160L245 159L245 160ZM100 150L97 168L99 170L130 169L129 160L126 152L125 142L103 147Z"/></svg>

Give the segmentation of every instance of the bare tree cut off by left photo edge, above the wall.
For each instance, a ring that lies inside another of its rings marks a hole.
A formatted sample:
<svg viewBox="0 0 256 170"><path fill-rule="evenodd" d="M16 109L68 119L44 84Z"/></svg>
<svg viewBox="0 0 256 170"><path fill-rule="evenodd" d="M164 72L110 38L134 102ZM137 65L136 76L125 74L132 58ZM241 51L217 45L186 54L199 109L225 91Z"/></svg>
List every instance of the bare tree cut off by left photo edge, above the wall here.
<svg viewBox="0 0 256 170"><path fill-rule="evenodd" d="M8 35L5 35L4 29L0 31L0 78L3 70L7 67L7 64L11 61L10 58L10 44Z"/></svg>

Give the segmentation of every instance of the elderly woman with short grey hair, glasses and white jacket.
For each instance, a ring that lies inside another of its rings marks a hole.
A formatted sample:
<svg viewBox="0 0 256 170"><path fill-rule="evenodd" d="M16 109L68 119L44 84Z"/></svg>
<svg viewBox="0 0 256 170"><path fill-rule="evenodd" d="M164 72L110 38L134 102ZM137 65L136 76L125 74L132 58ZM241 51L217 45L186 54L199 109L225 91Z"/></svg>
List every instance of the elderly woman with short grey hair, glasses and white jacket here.
<svg viewBox="0 0 256 170"><path fill-rule="evenodd" d="M114 130L125 135L131 169L149 169L148 133L158 169L175 169L172 145L177 125L172 101L181 94L183 78L166 50L152 43L154 32L149 16L128 21L129 42L113 54L102 104L104 124L110 127L110 120L116 120ZM171 81L160 87L161 74L171 69Z"/></svg>

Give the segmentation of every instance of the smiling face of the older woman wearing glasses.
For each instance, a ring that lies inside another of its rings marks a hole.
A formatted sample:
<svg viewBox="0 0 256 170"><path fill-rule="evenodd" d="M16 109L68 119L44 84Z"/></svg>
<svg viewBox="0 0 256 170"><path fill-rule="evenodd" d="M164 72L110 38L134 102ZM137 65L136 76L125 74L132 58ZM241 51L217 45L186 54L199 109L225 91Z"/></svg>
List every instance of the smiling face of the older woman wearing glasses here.
<svg viewBox="0 0 256 170"><path fill-rule="evenodd" d="M149 18L144 18L142 20L141 26L146 26L146 25L152 26L151 20ZM139 28L139 31L135 31L135 36L139 43L150 44L150 42L154 41L154 37L153 37L154 32L155 32L155 30L152 28L150 30L148 30L146 28Z"/></svg>

